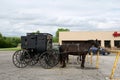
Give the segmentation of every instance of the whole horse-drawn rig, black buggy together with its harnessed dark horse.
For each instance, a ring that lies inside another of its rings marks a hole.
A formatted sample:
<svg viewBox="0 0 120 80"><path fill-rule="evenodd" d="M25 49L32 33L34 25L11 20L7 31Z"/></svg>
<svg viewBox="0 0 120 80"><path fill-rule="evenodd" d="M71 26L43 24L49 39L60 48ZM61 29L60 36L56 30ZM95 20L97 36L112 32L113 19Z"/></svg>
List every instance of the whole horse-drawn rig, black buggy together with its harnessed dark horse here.
<svg viewBox="0 0 120 80"><path fill-rule="evenodd" d="M12 60L18 68L32 66L39 62L43 68L49 69L56 66L59 61L61 67L65 67L68 55L78 55L82 57L81 67L84 68L86 54L93 45L99 48L97 40L87 40L77 44L59 45L59 49L54 50L51 34L27 33L27 36L21 36L22 49L13 54Z"/></svg>

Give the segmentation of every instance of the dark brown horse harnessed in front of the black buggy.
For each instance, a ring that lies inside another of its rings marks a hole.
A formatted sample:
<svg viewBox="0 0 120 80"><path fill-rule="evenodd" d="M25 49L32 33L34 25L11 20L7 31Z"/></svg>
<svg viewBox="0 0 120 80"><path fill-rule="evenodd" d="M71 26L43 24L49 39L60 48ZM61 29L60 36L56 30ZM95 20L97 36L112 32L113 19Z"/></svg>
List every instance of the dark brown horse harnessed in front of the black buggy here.
<svg viewBox="0 0 120 80"><path fill-rule="evenodd" d="M95 46L99 49L99 43L97 40L87 40L85 42L79 42L77 44L63 44L60 45L60 63L62 68L66 67L66 61L68 60L68 55L78 55L80 56L81 68L84 68L85 57L91 46Z"/></svg>

